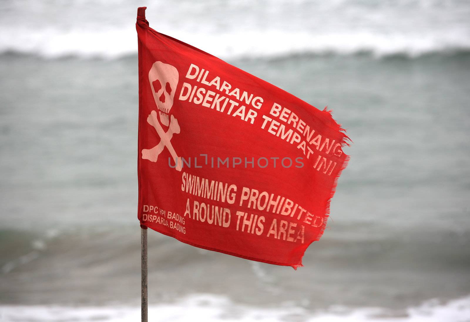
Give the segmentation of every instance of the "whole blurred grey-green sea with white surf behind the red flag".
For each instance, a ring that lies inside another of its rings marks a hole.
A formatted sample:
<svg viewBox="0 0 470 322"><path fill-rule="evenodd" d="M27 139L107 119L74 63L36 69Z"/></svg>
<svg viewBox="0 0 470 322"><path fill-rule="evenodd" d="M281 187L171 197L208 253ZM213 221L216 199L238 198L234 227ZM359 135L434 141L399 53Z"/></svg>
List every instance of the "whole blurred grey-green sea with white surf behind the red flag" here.
<svg viewBox="0 0 470 322"><path fill-rule="evenodd" d="M298 271L149 231L150 321L470 321L470 2L0 1L0 321L138 321L136 10L352 138Z"/></svg>

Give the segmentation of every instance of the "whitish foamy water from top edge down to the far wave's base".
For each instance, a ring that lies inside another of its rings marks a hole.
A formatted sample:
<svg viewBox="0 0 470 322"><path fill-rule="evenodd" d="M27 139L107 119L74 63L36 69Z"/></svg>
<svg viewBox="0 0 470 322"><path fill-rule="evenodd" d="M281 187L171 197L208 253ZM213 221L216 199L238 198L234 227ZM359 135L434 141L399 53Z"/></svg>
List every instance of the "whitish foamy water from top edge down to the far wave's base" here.
<svg viewBox="0 0 470 322"><path fill-rule="evenodd" d="M298 53L419 56L470 50L470 2L237 0L166 4L148 1L157 31L221 58ZM135 55L129 0L9 1L0 4L0 53L48 58ZM4 7L4 8L2 8Z"/></svg>

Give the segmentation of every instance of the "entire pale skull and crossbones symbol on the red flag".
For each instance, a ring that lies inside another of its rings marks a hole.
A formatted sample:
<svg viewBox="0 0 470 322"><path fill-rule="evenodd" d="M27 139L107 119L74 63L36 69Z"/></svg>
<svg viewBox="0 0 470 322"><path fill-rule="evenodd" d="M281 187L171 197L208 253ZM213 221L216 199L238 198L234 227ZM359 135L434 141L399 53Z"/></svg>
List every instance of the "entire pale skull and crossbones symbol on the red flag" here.
<svg viewBox="0 0 470 322"><path fill-rule="evenodd" d="M158 156L166 147L176 164L176 170L181 171L181 157L178 157L171 143L173 134L180 133L180 125L176 118L172 115L169 116L173 106L176 86L178 85L178 78L178 70L174 66L162 62L155 62L149 71L150 87L157 104L158 115L157 111L152 110L147 122L157 131L160 143L151 149L142 149L142 159L157 162ZM164 132L160 122L164 126L168 126L166 132Z"/></svg>

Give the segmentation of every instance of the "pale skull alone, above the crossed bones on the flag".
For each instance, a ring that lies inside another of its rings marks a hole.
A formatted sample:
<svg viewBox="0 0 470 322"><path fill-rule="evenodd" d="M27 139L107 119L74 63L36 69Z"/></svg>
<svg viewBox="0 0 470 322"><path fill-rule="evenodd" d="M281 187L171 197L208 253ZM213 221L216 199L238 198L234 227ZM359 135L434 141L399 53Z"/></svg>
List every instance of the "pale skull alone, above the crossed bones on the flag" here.
<svg viewBox="0 0 470 322"><path fill-rule="evenodd" d="M149 71L150 87L157 104L160 122L168 126L168 113L173 106L176 86L178 85L178 70L169 64L155 62Z"/></svg>

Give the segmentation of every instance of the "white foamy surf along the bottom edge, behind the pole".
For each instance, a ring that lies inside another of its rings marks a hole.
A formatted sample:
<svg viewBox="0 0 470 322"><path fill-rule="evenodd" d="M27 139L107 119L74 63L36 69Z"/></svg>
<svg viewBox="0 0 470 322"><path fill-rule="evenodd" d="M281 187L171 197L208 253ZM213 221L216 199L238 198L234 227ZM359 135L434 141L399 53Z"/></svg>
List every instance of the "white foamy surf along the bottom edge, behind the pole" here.
<svg viewBox="0 0 470 322"><path fill-rule="evenodd" d="M138 321L139 307L129 306L0 306L2 321ZM172 304L149 306L149 317L159 321L204 322L465 322L470 317L470 296L445 304L430 300L421 306L394 312L384 308L346 308L332 306L325 311L309 312L303 307L286 303L275 308L259 308L235 304L226 297L196 294Z"/></svg>

